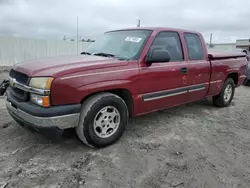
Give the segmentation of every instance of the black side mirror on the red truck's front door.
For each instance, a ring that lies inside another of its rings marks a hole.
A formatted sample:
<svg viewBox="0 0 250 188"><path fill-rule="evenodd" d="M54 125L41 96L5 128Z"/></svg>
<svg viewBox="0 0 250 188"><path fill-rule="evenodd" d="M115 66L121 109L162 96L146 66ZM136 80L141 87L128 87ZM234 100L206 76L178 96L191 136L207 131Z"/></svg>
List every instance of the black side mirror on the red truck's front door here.
<svg viewBox="0 0 250 188"><path fill-rule="evenodd" d="M146 58L147 63L163 63L169 61L170 55L167 50L153 50L148 53Z"/></svg>

